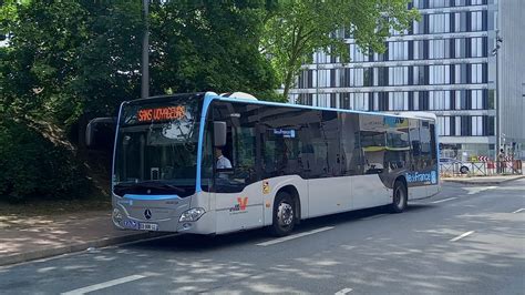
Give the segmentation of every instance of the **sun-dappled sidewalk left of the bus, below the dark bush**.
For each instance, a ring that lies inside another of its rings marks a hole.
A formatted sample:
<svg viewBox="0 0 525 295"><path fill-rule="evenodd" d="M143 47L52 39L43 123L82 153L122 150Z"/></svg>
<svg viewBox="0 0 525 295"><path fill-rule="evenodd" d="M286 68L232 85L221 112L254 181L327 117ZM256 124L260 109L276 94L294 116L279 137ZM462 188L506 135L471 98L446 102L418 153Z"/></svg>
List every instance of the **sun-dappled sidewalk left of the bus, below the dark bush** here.
<svg viewBox="0 0 525 295"><path fill-rule="evenodd" d="M113 227L110 211L32 217L0 215L0 265L158 235L148 232L119 231Z"/></svg>

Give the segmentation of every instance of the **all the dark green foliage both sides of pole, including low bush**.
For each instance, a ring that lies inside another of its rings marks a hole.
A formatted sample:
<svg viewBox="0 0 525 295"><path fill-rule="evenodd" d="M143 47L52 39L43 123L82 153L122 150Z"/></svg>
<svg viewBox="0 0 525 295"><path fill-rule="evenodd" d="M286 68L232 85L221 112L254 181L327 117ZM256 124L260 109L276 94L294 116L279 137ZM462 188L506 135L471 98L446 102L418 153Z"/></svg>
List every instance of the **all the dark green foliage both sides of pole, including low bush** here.
<svg viewBox="0 0 525 295"><path fill-rule="evenodd" d="M151 1L150 11L152 95L281 99L259 52L266 0ZM142 1L4 0L0 28L12 34L0 48L0 113L10 118L0 122L0 195L78 192L85 172L68 141L80 142L87 119L140 98Z"/></svg>

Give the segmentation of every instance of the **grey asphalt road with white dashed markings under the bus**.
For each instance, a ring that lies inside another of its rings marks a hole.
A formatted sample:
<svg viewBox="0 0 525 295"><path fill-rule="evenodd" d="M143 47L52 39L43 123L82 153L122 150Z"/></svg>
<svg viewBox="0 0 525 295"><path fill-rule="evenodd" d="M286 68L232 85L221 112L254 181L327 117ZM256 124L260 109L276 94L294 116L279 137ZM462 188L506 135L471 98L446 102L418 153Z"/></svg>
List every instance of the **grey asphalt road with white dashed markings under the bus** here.
<svg viewBox="0 0 525 295"><path fill-rule="evenodd" d="M525 180L445 184L402 214L172 236L0 267L1 294L525 294Z"/></svg>

